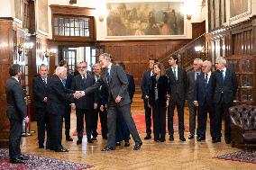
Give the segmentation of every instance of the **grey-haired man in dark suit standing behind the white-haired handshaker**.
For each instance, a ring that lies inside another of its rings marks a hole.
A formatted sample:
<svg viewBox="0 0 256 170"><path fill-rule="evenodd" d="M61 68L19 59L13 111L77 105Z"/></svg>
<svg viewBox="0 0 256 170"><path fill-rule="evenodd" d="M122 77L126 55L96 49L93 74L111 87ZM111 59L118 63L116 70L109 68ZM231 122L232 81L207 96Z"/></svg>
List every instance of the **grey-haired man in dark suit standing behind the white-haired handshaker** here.
<svg viewBox="0 0 256 170"><path fill-rule="evenodd" d="M46 112L47 103L47 83L49 82L48 68L46 65L41 64L39 67L39 76L32 79L32 96L33 106L37 116L37 130L38 130L38 144L39 148L44 148L45 130L47 130L47 144L50 137L49 130L49 117Z"/></svg>

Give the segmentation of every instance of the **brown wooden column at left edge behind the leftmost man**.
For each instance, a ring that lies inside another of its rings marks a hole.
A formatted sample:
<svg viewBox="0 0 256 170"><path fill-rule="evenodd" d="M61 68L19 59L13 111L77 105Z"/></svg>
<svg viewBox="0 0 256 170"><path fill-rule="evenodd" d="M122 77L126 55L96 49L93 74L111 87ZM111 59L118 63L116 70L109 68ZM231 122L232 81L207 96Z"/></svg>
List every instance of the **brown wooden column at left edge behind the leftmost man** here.
<svg viewBox="0 0 256 170"><path fill-rule="evenodd" d="M6 116L5 82L9 77L9 67L14 63L13 20L0 19L0 148L9 143L9 120Z"/></svg>

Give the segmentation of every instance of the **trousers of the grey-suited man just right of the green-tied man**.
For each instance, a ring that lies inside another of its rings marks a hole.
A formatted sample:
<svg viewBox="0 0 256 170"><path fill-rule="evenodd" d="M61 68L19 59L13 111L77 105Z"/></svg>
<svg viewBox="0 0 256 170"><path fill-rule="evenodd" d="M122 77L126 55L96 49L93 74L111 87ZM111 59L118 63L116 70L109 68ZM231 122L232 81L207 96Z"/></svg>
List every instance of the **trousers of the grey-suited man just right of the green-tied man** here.
<svg viewBox="0 0 256 170"><path fill-rule="evenodd" d="M189 110L189 132L191 135L195 135L196 130L196 119L197 119L197 107L193 101L187 100L187 106ZM197 130L198 132L198 130Z"/></svg>

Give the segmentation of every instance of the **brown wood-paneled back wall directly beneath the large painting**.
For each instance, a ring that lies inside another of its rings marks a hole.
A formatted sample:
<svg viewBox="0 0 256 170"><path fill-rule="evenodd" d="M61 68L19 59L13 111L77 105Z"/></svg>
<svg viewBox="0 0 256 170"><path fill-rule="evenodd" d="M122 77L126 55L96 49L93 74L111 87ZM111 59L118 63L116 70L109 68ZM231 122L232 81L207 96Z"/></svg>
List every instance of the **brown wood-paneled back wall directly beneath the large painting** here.
<svg viewBox="0 0 256 170"><path fill-rule="evenodd" d="M105 47L105 52L113 56L115 63L125 64L126 71L134 76L135 85L139 87L142 74L148 69L149 58L165 58L188 41L190 40L123 40L102 41L99 45Z"/></svg>

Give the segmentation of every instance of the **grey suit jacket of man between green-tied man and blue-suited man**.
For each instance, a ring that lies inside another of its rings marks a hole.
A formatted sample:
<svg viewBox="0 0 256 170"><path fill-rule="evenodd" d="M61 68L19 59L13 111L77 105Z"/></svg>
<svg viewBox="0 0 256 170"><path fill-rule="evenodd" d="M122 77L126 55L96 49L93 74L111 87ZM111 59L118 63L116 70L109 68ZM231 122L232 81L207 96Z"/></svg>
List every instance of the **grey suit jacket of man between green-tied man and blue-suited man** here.
<svg viewBox="0 0 256 170"><path fill-rule="evenodd" d="M195 71L188 71L187 72L187 100L193 101L194 97L194 89L195 89Z"/></svg>

